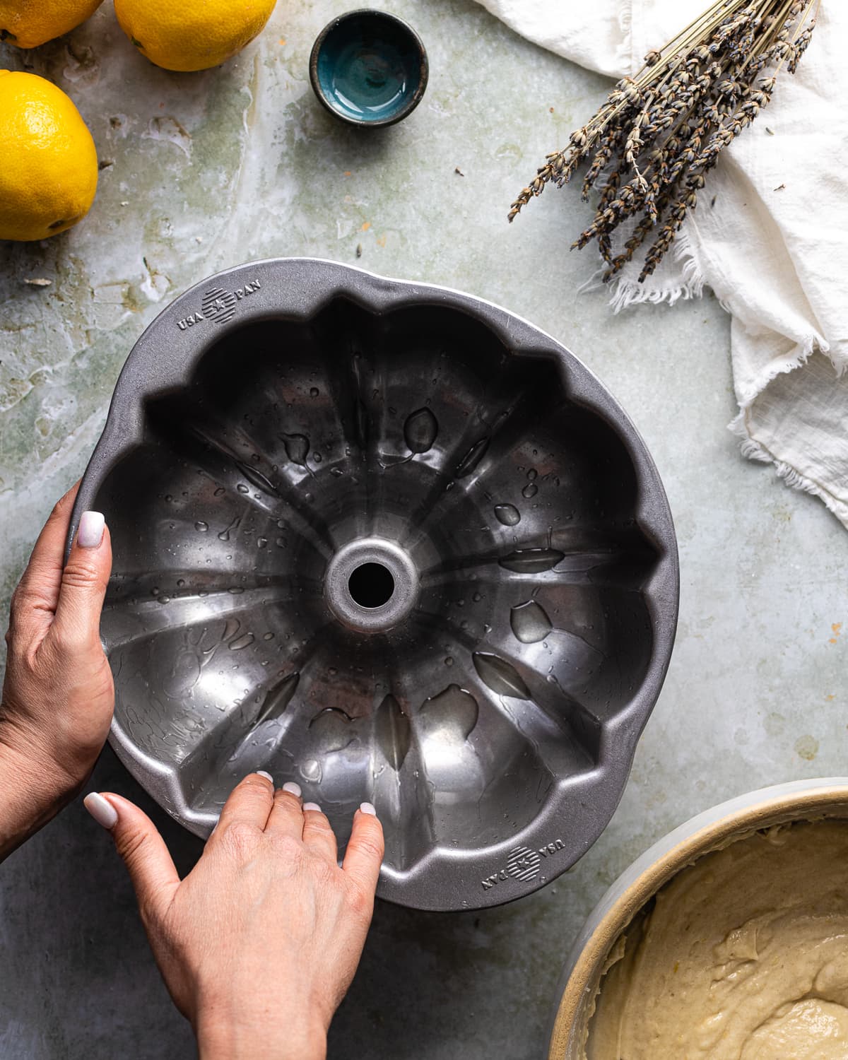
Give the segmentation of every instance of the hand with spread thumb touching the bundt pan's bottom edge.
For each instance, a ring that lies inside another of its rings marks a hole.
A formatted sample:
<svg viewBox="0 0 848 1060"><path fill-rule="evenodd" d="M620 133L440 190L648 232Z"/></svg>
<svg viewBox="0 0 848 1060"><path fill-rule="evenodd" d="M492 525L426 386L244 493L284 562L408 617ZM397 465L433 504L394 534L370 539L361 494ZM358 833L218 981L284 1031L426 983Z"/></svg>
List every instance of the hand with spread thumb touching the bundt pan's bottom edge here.
<svg viewBox="0 0 848 1060"><path fill-rule="evenodd" d="M341 868L336 838L295 783L252 773L180 881L153 822L120 795L86 807L114 838L156 962L201 1060L322 1060L365 944L383 829L363 803Z"/></svg>

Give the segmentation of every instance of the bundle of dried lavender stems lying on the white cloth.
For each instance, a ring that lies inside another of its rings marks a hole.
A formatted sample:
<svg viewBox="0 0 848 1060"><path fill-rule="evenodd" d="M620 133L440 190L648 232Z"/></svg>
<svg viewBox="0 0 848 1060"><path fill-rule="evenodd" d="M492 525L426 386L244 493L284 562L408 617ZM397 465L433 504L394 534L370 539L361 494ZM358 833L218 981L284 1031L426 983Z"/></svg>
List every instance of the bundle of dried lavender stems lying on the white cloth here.
<svg viewBox="0 0 848 1060"><path fill-rule="evenodd" d="M582 197L595 189L600 200L572 249L595 240L607 282L651 240L639 275L643 282L695 209L705 175L723 148L771 100L781 67L795 72L819 2L711 4L664 48L649 52L635 76L622 77L600 110L571 134L567 147L548 155L512 204L509 219L546 184L568 183L585 162ZM616 252L613 234L622 224Z"/></svg>

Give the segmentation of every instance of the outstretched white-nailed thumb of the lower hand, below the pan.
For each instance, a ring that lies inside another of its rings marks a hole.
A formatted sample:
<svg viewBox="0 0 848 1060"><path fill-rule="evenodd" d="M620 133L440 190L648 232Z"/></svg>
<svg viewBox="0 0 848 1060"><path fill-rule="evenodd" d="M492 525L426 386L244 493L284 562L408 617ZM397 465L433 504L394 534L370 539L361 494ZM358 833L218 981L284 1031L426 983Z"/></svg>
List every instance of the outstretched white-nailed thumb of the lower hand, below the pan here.
<svg viewBox="0 0 848 1060"><path fill-rule="evenodd" d="M110 792L91 792L83 800L99 825L112 833L124 860L145 921L161 920L179 887L177 872L164 840L143 810Z"/></svg>

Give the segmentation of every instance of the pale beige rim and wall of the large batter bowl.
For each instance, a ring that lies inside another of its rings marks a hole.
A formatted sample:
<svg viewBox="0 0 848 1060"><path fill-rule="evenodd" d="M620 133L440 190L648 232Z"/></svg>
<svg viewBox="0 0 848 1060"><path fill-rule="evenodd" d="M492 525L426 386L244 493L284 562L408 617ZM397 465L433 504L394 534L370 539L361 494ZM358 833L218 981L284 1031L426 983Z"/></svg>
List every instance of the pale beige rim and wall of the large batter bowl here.
<svg viewBox="0 0 848 1060"><path fill-rule="evenodd" d="M848 817L848 777L795 780L721 802L675 828L621 873L589 914L556 990L548 1060L581 1060L613 947L656 893L699 858L773 825Z"/></svg>

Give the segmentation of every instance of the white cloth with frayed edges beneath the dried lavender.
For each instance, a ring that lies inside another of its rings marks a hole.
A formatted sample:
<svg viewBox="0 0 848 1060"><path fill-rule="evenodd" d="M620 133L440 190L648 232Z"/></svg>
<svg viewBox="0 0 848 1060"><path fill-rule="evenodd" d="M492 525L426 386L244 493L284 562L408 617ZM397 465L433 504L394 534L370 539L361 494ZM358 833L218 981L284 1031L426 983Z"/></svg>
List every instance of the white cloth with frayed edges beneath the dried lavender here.
<svg viewBox="0 0 848 1060"><path fill-rule="evenodd" d="M616 77L635 73L651 49L708 6L478 2L528 39ZM846 55L848 2L822 0L797 72L780 72L772 102L722 152L673 253L646 284L637 283L633 262L611 287L616 311L700 295L705 283L713 289L732 315L739 416L730 428L743 454L774 463L790 485L820 497L848 527ZM551 151L563 146L552 143Z"/></svg>

